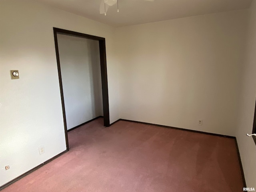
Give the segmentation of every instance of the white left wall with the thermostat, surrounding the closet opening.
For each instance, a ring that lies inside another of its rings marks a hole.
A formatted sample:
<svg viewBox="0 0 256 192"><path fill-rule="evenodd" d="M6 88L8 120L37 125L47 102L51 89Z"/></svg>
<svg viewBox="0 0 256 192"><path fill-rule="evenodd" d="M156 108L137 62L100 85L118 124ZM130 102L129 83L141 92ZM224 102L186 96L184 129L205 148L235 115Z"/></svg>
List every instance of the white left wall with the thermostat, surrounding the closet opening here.
<svg viewBox="0 0 256 192"><path fill-rule="evenodd" d="M0 186L66 150L53 27L106 38L110 123L119 119L114 28L35 1L1 0ZM20 79L11 80L12 69Z"/></svg>

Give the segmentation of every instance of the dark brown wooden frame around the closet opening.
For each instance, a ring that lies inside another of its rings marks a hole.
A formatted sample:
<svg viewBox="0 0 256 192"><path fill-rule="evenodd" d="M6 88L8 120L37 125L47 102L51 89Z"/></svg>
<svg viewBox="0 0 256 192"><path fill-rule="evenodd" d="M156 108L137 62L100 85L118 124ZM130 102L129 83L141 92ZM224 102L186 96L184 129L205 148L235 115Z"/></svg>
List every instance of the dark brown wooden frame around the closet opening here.
<svg viewBox="0 0 256 192"><path fill-rule="evenodd" d="M59 56L59 49L58 49L58 40L57 34L66 34L86 39L92 39L99 41L100 46L100 70L101 70L101 83L102 83L102 99L103 99L103 118L104 118L104 126L110 126L109 121L109 104L108 104L108 76L107 76L107 62L106 62L106 42L105 38L78 33L74 31L69 31L60 28L53 28L54 33L54 42L55 42L55 50L56 50L56 59L57 59L57 66L58 66L58 74L59 74L59 83L60 83L60 97L62 103L62 114L63 114L63 121L64 121L64 130L65 130L65 138L66 138L66 148L69 150L68 146L68 130L67 130L67 122L66 122L66 112L65 112L65 104L64 104L64 96L63 96L63 88L62 88L62 78L61 78L61 70L60 70L60 56Z"/></svg>

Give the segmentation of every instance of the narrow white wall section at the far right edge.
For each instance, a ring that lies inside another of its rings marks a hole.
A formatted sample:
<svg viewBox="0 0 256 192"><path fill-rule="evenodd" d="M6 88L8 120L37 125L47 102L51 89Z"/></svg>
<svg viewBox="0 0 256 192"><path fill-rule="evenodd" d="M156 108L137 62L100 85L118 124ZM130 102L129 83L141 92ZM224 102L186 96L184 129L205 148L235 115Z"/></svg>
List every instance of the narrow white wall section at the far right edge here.
<svg viewBox="0 0 256 192"><path fill-rule="evenodd" d="M252 133L256 100L256 1L252 1L248 24L236 138L247 187L256 187L256 145L246 136Z"/></svg>

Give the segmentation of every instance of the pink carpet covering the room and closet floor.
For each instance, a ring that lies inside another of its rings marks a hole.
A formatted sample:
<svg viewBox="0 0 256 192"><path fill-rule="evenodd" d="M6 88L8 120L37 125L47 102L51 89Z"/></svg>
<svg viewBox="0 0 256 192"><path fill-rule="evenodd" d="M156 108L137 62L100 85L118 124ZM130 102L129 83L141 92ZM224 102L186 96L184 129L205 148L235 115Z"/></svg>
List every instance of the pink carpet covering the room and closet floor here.
<svg viewBox="0 0 256 192"><path fill-rule="evenodd" d="M234 139L99 118L70 151L2 192L241 192Z"/></svg>

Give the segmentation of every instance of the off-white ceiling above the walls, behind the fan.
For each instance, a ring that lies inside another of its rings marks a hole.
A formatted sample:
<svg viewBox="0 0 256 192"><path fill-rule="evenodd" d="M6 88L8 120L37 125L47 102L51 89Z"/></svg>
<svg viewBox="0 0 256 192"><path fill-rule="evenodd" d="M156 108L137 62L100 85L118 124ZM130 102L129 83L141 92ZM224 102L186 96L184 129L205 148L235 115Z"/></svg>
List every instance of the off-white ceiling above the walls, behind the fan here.
<svg viewBox="0 0 256 192"><path fill-rule="evenodd" d="M36 0L50 6L114 27L144 24L175 18L241 10L252 0L118 0L107 15L100 14L101 0Z"/></svg>

